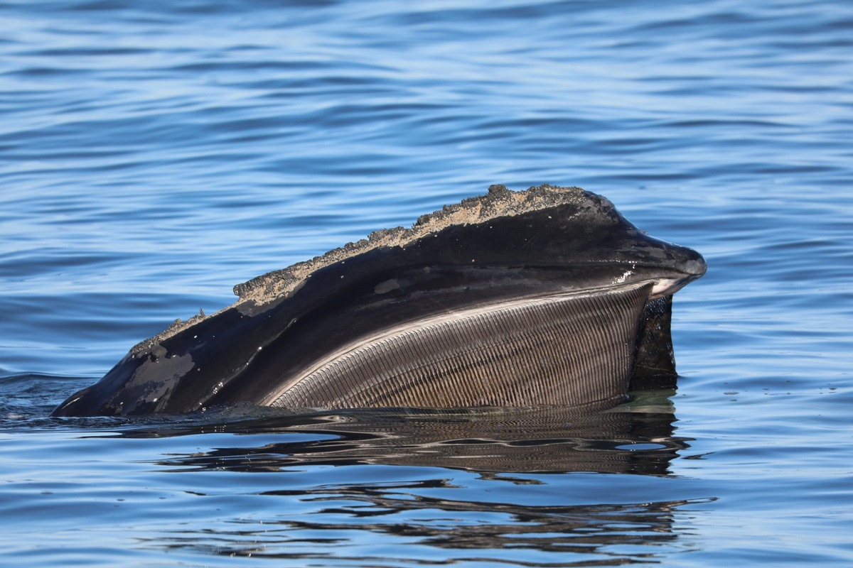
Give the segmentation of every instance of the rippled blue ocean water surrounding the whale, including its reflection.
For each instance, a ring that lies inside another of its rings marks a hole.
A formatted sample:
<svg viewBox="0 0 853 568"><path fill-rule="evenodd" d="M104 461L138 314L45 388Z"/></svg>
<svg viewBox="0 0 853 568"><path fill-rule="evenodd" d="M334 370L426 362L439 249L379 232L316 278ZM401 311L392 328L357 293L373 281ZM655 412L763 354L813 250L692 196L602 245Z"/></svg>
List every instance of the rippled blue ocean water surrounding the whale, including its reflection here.
<svg viewBox="0 0 853 568"><path fill-rule="evenodd" d="M850 565L850 3L13 0L0 29L0 565ZM705 255L677 390L49 418L234 284L493 183Z"/></svg>

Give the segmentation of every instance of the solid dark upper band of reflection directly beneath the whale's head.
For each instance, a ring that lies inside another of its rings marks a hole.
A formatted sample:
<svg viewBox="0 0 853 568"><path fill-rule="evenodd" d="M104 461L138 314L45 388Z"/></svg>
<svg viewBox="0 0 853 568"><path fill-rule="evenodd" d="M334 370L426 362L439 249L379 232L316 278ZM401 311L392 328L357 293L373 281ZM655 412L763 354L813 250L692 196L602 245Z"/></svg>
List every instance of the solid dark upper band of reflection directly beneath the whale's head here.
<svg viewBox="0 0 853 568"><path fill-rule="evenodd" d="M641 393L632 404L595 412L559 407L499 410L347 410L284 414L235 410L198 422L136 425L127 437L205 432L281 436L259 446L220 447L159 462L170 468L275 472L305 465L381 464L501 473L635 473L669 475L670 461L688 447L673 436L667 395ZM261 416L258 416L261 415ZM239 443L241 436L234 437ZM247 436L247 442L252 436ZM265 438L269 440L269 438Z"/></svg>

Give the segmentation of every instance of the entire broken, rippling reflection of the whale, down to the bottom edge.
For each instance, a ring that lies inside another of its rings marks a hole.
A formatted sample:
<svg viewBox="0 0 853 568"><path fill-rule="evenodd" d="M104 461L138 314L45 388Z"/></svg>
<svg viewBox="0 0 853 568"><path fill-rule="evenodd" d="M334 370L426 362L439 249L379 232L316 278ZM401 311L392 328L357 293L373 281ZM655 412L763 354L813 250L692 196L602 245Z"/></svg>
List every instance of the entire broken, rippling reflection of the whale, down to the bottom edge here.
<svg viewBox="0 0 853 568"><path fill-rule="evenodd" d="M502 488L548 486L554 474L572 472L669 476L670 461L688 448L688 440L673 435L675 416L667 399L672 393L641 393L632 404L585 414L555 408L350 411L208 423L217 432L309 435L168 456L157 464L171 472L302 472L297 474L309 478L306 483L288 478L281 488L264 485L258 496L281 499L283 511L299 502L303 513L269 515L263 524L235 519L234 525L218 525L201 538L171 535L167 546L353 566L455 560L522 566L656 563L690 548L679 542L676 519L708 500L618 502L614 497L617 502L565 504L555 495L554 504L543 504L533 496L536 491ZM198 427L185 425L169 434L197 433ZM125 431L162 434L145 428ZM405 466L408 475L411 468L423 468L423 476L401 480L393 470L379 470L365 481L357 474L363 464ZM310 482L310 466L330 465L343 467L340 482ZM351 477L347 467L355 468ZM461 487L447 469L476 473L498 486L486 493ZM613 480L602 477L601 482ZM355 555L352 548L362 542L383 542L382 553ZM420 559L407 560L413 558Z"/></svg>

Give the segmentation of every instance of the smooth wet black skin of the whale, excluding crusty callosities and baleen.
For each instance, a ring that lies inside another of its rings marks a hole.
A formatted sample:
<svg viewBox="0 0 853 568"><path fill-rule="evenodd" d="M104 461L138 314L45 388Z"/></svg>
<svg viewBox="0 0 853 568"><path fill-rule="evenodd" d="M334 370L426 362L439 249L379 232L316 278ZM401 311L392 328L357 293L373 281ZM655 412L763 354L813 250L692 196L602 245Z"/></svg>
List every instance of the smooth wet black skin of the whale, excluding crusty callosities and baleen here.
<svg viewBox="0 0 853 568"><path fill-rule="evenodd" d="M667 279L637 337L633 387L674 381L672 292L699 278L699 253L648 237L604 198L453 225L405 248L368 250L312 273L284 298L244 301L128 353L53 416L182 413L260 404L276 385L380 330L467 307Z"/></svg>

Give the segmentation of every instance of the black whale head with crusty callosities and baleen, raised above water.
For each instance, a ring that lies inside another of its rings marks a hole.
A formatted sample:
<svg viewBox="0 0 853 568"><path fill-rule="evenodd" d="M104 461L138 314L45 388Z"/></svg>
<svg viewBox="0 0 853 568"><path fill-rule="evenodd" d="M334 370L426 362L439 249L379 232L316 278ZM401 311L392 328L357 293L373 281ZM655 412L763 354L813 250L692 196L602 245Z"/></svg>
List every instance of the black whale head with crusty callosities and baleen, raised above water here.
<svg viewBox="0 0 853 568"><path fill-rule="evenodd" d="M672 387L672 295L705 273L606 198L535 186L422 215L234 287L52 416L605 408Z"/></svg>

